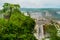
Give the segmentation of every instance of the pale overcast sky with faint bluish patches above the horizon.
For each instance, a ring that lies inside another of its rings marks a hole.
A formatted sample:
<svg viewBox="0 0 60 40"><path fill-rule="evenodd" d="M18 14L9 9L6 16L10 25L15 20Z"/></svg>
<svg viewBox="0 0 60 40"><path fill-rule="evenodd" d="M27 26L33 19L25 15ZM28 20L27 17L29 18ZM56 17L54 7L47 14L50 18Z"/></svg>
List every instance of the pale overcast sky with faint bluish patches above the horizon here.
<svg viewBox="0 0 60 40"><path fill-rule="evenodd" d="M0 0L3 3L19 4L22 8L60 8L60 0Z"/></svg>

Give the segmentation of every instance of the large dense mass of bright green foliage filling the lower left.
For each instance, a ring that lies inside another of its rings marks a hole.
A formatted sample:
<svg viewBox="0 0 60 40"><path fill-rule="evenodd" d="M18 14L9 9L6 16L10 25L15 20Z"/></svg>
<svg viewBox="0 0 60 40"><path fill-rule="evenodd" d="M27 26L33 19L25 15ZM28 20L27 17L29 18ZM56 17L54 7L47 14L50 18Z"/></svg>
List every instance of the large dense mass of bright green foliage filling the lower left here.
<svg viewBox="0 0 60 40"><path fill-rule="evenodd" d="M32 18L14 10L9 21L0 19L0 40L36 40L33 35L34 26Z"/></svg>

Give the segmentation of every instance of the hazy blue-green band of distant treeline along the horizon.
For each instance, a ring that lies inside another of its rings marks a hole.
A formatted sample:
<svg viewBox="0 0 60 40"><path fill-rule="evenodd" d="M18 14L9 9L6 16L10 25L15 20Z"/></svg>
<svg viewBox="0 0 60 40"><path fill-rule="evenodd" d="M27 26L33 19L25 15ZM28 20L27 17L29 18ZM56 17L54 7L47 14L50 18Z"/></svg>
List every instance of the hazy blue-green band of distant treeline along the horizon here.
<svg viewBox="0 0 60 40"><path fill-rule="evenodd" d="M21 11L29 11L29 12L43 12L43 11L60 11L60 8L21 8Z"/></svg>

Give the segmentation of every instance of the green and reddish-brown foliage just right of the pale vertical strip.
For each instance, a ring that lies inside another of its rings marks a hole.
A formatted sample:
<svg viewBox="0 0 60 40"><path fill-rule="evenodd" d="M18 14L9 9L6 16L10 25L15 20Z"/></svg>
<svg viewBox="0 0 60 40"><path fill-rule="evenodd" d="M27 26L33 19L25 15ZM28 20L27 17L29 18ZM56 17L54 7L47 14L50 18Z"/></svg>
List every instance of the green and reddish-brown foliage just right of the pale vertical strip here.
<svg viewBox="0 0 60 40"><path fill-rule="evenodd" d="M45 25L45 31L49 33L50 40L60 40L60 37L57 36L57 29L54 25L55 23Z"/></svg>

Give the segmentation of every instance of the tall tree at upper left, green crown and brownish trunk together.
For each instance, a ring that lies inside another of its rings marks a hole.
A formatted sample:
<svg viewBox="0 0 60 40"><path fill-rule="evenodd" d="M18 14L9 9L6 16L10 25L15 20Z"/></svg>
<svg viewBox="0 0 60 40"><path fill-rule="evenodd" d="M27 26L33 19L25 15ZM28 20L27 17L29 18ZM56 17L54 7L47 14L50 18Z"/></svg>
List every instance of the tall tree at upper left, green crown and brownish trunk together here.
<svg viewBox="0 0 60 40"><path fill-rule="evenodd" d="M10 20L10 17L11 17L11 14L14 12L14 11L18 11L20 12L20 6L18 4L9 4L9 3L4 3L3 5L3 10L4 10L4 13L8 13L7 15L4 15L8 21Z"/></svg>

